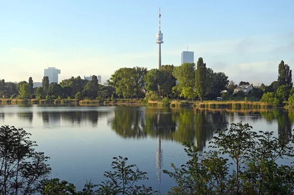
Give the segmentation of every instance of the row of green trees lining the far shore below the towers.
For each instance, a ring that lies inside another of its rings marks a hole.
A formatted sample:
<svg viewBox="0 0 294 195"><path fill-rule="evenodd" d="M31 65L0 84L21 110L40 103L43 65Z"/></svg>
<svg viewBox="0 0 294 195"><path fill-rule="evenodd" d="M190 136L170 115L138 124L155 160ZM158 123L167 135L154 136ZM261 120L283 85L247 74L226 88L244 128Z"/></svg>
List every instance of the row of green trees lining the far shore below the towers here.
<svg viewBox="0 0 294 195"><path fill-rule="evenodd" d="M99 81L100 82L100 81ZM18 84L0 81L0 97L21 97L54 100L57 98L81 99L111 99L117 98L145 98L146 100L159 100L161 98L187 100L216 99L223 97L225 100L243 99L245 96L254 97L272 105L288 101L294 93L292 82L292 70L284 61L278 65L278 79L269 86L263 83L259 87L253 87L246 94L244 91L234 90L238 85L229 81L223 72L214 72L206 66L202 58L197 64L184 63L179 66L162 65L160 69L147 70L146 67L123 67L114 72L107 80L108 86L98 84L97 76L92 80L82 79L80 76L71 77L59 84L49 84L49 78L44 77L42 87L33 88L33 80L29 77L28 82ZM239 85L250 85L249 82L241 81ZM294 99L294 98L292 98ZM292 100L291 99L291 100ZM294 105L294 103L293 103Z"/></svg>

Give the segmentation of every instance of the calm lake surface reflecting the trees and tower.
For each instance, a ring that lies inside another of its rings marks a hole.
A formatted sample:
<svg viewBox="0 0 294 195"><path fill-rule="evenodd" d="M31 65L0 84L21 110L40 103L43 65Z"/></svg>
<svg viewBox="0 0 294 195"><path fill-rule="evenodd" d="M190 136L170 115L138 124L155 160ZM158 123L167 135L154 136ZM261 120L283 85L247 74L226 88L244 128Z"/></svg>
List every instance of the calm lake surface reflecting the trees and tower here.
<svg viewBox="0 0 294 195"><path fill-rule="evenodd" d="M99 184L111 170L114 156L128 157L147 172L146 186L165 194L174 185L162 173L187 160L183 141L201 151L216 129L230 123L249 123L254 130L291 133L294 113L278 110L198 110L192 108L78 107L0 105L0 125L24 128L37 141L38 151L50 157L51 178L73 183L81 190L87 180ZM287 138L287 137L286 137Z"/></svg>

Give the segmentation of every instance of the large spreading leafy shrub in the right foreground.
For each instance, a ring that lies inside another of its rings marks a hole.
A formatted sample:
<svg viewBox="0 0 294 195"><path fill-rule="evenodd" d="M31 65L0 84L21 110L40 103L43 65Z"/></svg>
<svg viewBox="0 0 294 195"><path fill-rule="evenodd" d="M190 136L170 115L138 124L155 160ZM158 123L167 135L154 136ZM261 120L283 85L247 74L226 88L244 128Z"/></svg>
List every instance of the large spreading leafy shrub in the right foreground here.
<svg viewBox="0 0 294 195"><path fill-rule="evenodd" d="M184 143L187 163L181 168L172 164L174 171L163 171L176 183L168 194L292 194L294 166L277 164L293 156L291 143L273 137L273 132L251 129L249 124L237 123L217 130L210 142L212 150L203 154L193 143Z"/></svg>

